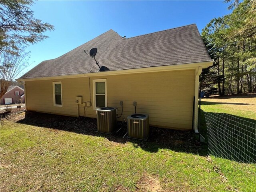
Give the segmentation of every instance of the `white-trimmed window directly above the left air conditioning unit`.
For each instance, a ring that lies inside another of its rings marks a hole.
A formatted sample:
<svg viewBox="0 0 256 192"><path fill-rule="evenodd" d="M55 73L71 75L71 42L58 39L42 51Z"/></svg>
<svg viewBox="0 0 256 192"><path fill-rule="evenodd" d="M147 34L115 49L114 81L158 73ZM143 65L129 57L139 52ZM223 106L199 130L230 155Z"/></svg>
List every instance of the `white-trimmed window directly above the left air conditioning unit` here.
<svg viewBox="0 0 256 192"><path fill-rule="evenodd" d="M107 106L107 80L93 80L94 109Z"/></svg>

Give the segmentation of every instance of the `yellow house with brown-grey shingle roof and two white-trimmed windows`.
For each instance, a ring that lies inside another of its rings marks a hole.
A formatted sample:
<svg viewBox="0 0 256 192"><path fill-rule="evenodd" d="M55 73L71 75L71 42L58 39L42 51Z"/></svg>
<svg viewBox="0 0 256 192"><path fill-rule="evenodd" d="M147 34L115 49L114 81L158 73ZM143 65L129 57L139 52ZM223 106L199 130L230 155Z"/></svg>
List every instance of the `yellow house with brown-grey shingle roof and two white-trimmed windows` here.
<svg viewBox="0 0 256 192"><path fill-rule="evenodd" d="M92 48L109 70L99 71L84 53ZM136 112L149 114L150 125L197 132L198 76L212 64L195 24L132 38L109 30L17 80L25 84L30 111L96 118L105 106L121 114L122 101L127 118L137 102Z"/></svg>

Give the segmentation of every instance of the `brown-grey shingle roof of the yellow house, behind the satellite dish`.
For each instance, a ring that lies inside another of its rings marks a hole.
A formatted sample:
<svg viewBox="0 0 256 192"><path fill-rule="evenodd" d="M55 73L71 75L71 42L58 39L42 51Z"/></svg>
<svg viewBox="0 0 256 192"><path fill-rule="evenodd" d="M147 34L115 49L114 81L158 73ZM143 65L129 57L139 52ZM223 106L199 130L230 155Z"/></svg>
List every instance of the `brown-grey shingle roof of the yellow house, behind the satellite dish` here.
<svg viewBox="0 0 256 192"><path fill-rule="evenodd" d="M210 61L196 24L122 38L113 30L82 44L70 52L38 64L22 78L50 77L97 72L95 61L84 53L96 47L96 60L110 70Z"/></svg>

